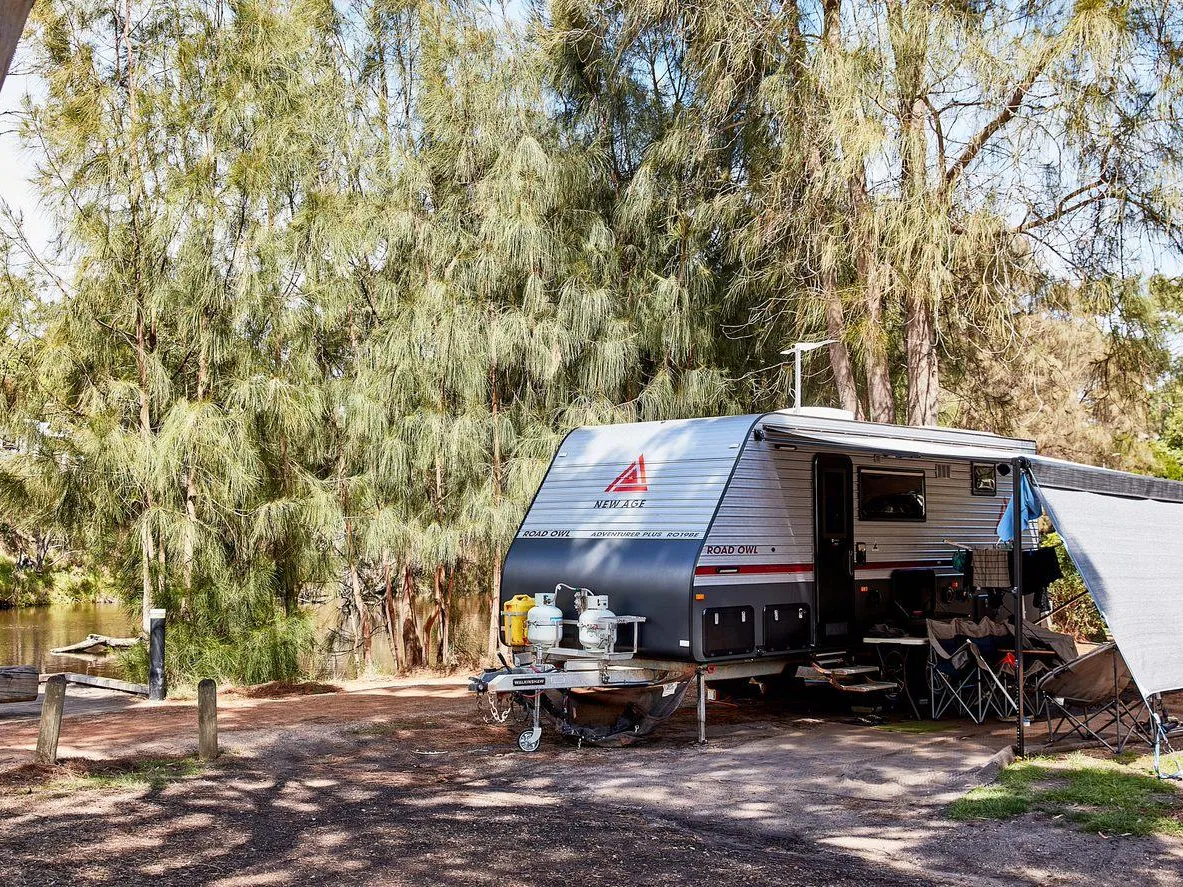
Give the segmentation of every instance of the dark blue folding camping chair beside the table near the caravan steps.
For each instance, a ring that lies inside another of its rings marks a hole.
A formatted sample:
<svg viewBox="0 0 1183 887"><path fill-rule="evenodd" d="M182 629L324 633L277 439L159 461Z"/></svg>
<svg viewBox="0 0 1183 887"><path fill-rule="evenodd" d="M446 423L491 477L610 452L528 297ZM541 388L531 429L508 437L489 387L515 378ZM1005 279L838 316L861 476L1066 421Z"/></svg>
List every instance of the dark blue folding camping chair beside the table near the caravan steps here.
<svg viewBox="0 0 1183 887"><path fill-rule="evenodd" d="M929 620L927 628L933 720L950 710L961 711L976 724L991 712L1000 718L1013 716L1015 701L989 661L1010 629L988 619Z"/></svg>

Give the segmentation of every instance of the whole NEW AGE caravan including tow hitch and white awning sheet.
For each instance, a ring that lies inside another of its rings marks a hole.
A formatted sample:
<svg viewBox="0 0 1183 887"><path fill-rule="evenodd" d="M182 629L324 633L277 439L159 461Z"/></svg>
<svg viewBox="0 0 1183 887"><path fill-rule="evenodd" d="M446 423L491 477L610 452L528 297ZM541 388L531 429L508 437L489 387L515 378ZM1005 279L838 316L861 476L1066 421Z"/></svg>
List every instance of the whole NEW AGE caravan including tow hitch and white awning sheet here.
<svg viewBox="0 0 1183 887"><path fill-rule="evenodd" d="M487 694L494 717L508 717L502 697L532 714L519 739L526 749L537 747L543 708L582 739L642 734L660 721L654 710L672 713L697 676L702 737L707 680L803 665L847 684L878 671L843 662L881 640L884 627L923 636L927 620L1021 608L1022 595L990 600L983 590L1022 588L1021 570L1011 577L1004 563L1002 580L975 581L958 552L998 553L1000 536L1015 532L1034 546L1029 488L1114 639L1134 650L1123 653L1143 697L1183 686L1179 620L1155 583L1159 572L1169 578L1156 550L1183 531L1183 485L1046 459L1028 440L801 409L568 434L502 575L502 604L512 604L504 639L521 636L512 620L532 614L522 602L534 600L554 614L555 642L516 647L512 663L474 678L472 688ZM1023 506L1011 517L1019 490ZM1144 513L1152 524L1098 536L1103 517L1117 513L1127 523ZM588 601L610 616L601 636L612 640L594 650L578 643ZM1021 646L1023 621L1015 624ZM581 708L595 706L578 694L603 688L628 701L595 727L581 724Z"/></svg>

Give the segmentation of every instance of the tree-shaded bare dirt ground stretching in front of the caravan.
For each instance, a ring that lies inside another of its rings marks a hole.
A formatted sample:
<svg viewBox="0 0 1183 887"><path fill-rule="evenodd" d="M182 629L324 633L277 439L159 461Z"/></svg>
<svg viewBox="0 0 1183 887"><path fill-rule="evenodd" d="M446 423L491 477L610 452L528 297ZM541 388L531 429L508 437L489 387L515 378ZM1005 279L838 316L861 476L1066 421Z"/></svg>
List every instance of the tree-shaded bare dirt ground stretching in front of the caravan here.
<svg viewBox="0 0 1183 887"><path fill-rule="evenodd" d="M1176 840L949 820L1006 725L916 736L738 700L710 706L706 746L683 710L629 749L548 733L523 755L455 679L219 703L213 765L71 790L19 769L35 717L0 710L0 883L1183 883ZM195 737L192 703L89 697L60 755L118 770Z"/></svg>

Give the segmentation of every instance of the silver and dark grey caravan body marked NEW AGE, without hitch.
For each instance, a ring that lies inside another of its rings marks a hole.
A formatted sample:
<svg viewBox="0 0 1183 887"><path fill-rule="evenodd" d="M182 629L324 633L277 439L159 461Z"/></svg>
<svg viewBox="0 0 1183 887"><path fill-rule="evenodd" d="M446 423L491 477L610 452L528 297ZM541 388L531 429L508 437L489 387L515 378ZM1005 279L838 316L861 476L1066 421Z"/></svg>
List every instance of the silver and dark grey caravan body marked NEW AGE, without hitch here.
<svg viewBox="0 0 1183 887"><path fill-rule="evenodd" d="M937 615L970 615L946 539L997 542L1011 486L997 466L1034 444L810 413L571 432L503 601L590 588L646 617L641 655L700 663L854 646L911 606L896 600L909 576L936 583ZM558 606L575 617L569 594Z"/></svg>

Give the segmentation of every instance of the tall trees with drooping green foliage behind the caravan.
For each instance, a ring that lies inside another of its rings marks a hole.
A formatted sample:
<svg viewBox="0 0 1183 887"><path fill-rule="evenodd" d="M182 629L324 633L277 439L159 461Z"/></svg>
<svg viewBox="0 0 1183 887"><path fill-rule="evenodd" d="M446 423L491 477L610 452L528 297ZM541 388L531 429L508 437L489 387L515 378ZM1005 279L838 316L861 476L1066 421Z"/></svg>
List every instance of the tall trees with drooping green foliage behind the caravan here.
<svg viewBox="0 0 1183 887"><path fill-rule="evenodd" d="M338 666L492 653L565 429L784 406L795 341L813 402L1168 465L1179 17L45 0L6 520L258 680L321 597Z"/></svg>

